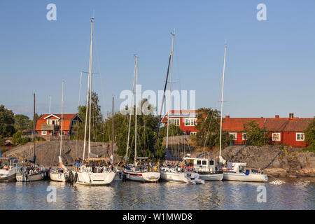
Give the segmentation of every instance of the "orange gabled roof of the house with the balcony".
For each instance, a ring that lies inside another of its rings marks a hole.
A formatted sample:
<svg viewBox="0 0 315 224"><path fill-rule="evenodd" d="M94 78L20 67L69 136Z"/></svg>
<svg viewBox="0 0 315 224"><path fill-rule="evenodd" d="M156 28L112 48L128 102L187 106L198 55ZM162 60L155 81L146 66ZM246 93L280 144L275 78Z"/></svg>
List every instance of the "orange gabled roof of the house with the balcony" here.
<svg viewBox="0 0 315 224"><path fill-rule="evenodd" d="M77 113L64 113L62 120L62 130L69 131L71 128L71 121L78 116ZM55 117L58 120L61 120L62 115L59 113L53 114L43 114L40 118L38 118L36 123L36 131L41 131L41 125L47 125L47 120L50 117ZM78 119L82 121L82 119L78 116ZM60 124L61 127L61 124ZM59 128L60 128L59 127Z"/></svg>

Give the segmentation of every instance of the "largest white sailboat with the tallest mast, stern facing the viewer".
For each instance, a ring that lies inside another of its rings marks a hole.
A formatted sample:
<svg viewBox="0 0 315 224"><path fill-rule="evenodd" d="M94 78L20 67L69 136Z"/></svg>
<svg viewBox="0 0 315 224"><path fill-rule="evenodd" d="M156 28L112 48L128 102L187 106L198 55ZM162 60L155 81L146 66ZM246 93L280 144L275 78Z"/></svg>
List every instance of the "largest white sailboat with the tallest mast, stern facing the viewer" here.
<svg viewBox="0 0 315 224"><path fill-rule="evenodd" d="M93 22L94 18L91 18L91 43L90 43L90 64L89 75L87 81L87 101L86 101L86 113L85 113L85 132L84 132L84 144L83 144L83 162L85 165L80 165L79 170L72 171L73 181L82 185L102 186L109 184L115 178L115 172L111 169L107 169L108 158L90 158L91 154L91 102L92 102L92 45L93 45ZM88 107L88 105L90 105ZM86 129L87 129L87 109L89 111L89 133L88 133L88 158L85 160L85 146L86 146ZM102 165L102 166L101 166Z"/></svg>

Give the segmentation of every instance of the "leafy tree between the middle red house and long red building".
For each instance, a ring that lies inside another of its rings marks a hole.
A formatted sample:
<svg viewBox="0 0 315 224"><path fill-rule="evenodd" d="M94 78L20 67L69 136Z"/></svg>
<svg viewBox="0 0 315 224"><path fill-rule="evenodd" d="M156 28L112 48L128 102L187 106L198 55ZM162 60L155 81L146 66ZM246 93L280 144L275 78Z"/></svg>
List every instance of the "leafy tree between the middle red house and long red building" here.
<svg viewBox="0 0 315 224"><path fill-rule="evenodd" d="M197 125L195 126L197 135L193 139L197 146L214 146L220 145L220 111L214 109L202 108L197 111ZM230 144L228 132L222 132L222 146Z"/></svg>

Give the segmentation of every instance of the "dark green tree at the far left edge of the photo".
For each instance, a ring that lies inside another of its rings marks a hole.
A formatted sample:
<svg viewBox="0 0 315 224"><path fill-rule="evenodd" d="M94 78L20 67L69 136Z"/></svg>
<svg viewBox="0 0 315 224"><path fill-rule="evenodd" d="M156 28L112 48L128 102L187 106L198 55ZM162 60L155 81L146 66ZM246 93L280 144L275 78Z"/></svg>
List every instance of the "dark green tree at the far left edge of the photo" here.
<svg viewBox="0 0 315 224"><path fill-rule="evenodd" d="M14 113L6 109L4 105L0 105L0 139L12 137L14 133Z"/></svg>

